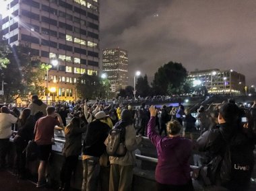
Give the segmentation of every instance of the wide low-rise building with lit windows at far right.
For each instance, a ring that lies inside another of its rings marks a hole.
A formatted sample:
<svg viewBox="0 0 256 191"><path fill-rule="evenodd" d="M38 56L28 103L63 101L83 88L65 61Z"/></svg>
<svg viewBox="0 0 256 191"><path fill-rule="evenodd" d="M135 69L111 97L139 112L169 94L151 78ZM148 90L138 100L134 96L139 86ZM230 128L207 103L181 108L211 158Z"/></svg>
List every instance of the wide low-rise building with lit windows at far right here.
<svg viewBox="0 0 256 191"><path fill-rule="evenodd" d="M210 69L192 71L189 80L193 85L204 85L208 93L245 93L245 75L236 71Z"/></svg>

